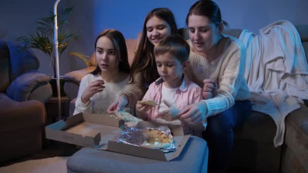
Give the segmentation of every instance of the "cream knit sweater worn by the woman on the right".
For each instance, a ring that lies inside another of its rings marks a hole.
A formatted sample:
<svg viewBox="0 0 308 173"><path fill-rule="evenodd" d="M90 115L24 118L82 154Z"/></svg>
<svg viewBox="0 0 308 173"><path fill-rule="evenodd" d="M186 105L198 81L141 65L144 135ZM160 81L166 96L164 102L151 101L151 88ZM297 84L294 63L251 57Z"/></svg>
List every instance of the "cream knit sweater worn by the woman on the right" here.
<svg viewBox="0 0 308 173"><path fill-rule="evenodd" d="M235 101L250 98L250 92L244 78L246 50L243 43L234 38L230 45L213 62L190 51L190 65L186 71L187 77L203 88L204 79L217 81L217 95L212 99L203 100L207 105L206 116L219 114L232 107ZM190 47L191 41L187 40ZM215 62L218 61L218 62ZM214 69L214 70L213 70ZM214 72L214 73L213 73Z"/></svg>

